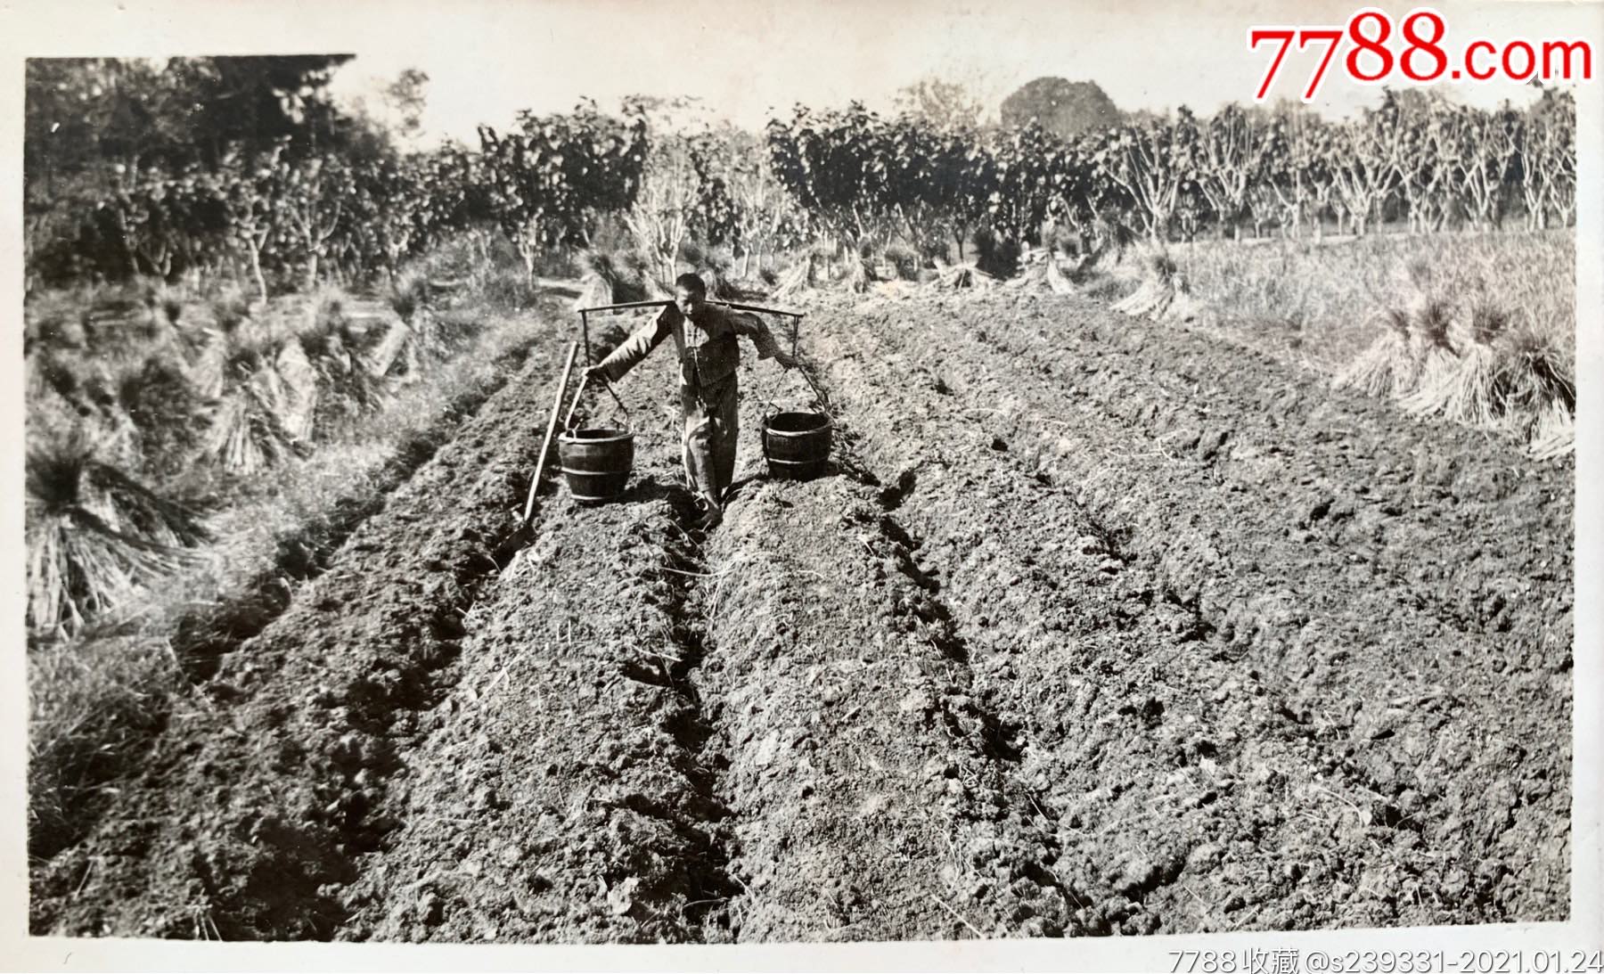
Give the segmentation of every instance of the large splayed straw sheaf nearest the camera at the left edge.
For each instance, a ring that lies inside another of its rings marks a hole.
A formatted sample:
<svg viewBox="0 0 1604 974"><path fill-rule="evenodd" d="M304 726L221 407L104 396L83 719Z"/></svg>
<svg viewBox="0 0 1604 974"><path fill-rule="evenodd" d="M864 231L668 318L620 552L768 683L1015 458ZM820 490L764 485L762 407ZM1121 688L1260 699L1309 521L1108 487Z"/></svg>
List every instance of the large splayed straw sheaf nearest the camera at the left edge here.
<svg viewBox="0 0 1604 974"><path fill-rule="evenodd" d="M82 435L27 454L27 618L71 634L128 605L210 539L196 510L95 457Z"/></svg>

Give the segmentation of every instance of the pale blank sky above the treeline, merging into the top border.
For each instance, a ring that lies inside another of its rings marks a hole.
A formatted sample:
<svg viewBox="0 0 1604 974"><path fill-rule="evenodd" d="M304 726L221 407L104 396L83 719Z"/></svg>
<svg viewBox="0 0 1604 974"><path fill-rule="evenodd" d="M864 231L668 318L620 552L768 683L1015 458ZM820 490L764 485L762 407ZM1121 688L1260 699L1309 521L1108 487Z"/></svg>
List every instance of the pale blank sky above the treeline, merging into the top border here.
<svg viewBox="0 0 1604 974"><path fill-rule="evenodd" d="M358 5L361 6L361 5ZM1096 80L1121 109L1185 104L1211 114L1246 103L1270 53L1248 51L1251 26L1343 24L1359 3L1123 3L945 0L685 0L401 3L395 16L353 39L356 61L335 91L374 103L404 67L430 75L425 141L475 141L475 125L507 125L515 112L568 111L581 96L605 109L632 93L687 95L757 128L796 103L860 99L889 108L893 93L926 77L966 83L994 114L1003 98L1041 75ZM1412 6L1383 6L1400 21ZM1604 37L1604 5L1503 0L1439 3L1447 47L1476 35L1506 42ZM326 34L345 40L338 30ZM1601 51L1594 51L1596 55ZM1318 51L1288 55L1275 95L1294 95ZM1338 71L1317 108L1341 116L1379 99L1376 87ZM1594 71L1604 66L1596 66ZM1535 95L1514 82L1440 85L1490 106Z"/></svg>

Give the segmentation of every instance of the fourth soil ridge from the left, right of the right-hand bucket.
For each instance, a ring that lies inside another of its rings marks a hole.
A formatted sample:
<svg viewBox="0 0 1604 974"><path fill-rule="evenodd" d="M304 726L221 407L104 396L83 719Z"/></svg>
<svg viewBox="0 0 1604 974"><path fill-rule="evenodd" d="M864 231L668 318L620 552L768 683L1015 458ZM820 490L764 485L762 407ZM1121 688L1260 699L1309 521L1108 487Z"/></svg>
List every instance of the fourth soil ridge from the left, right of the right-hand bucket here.
<svg viewBox="0 0 1604 974"><path fill-rule="evenodd" d="M1198 642L1190 613L1152 608L1152 578L1121 558L1128 539L1031 477L950 390L908 375L874 332L832 331L820 342L836 363L836 395L857 406L865 451L901 469L898 483L919 485L900 517L929 534L922 557L974 648L977 692L1006 720L1012 802L1052 838L1041 871L1075 891L1055 926L1222 929L1190 900L1176 903L1169 887L1195 889L1189 855L1266 799L1235 785L1243 773L1227 727L1198 706L1232 666ZM1107 688L1089 693L1097 677ZM1253 764L1307 778L1301 757L1270 735ZM1233 858L1277 855L1266 836Z"/></svg>

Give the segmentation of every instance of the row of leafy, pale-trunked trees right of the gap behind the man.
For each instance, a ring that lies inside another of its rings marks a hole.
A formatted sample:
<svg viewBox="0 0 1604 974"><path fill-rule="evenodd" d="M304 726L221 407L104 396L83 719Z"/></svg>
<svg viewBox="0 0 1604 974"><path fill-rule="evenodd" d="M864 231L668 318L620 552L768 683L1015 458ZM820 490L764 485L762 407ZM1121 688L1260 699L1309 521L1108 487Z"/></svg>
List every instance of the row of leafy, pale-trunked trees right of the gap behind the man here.
<svg viewBox="0 0 1604 974"><path fill-rule="evenodd" d="M797 108L768 124L775 173L816 231L849 242L905 236L962 241L977 228L1039 242L1052 223L1081 234L1123 225L1148 237L1205 226L1301 234L1335 218L1437 231L1533 228L1575 218L1575 106L1545 93L1532 108L1482 111L1389 91L1344 122L1283 108L1227 106L1051 135L1035 119L990 132L860 104Z"/></svg>

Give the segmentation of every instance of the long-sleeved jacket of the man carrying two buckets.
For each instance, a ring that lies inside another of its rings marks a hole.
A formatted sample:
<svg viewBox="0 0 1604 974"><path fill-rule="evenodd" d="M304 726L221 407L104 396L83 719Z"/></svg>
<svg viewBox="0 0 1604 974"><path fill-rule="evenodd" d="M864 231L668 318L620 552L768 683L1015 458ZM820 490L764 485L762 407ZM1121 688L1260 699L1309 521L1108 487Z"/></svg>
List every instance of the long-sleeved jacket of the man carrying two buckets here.
<svg viewBox="0 0 1604 974"><path fill-rule="evenodd" d="M757 358L773 358L780 351L768 326L755 315L703 305L698 321L687 321L677 306L669 305L614 348L613 355L602 359L602 369L616 382L664 339L674 339L680 359L680 385L688 390L711 390L735 375L741 363L741 347L736 343L739 335L752 340Z"/></svg>

